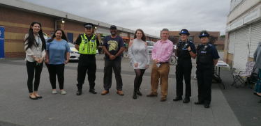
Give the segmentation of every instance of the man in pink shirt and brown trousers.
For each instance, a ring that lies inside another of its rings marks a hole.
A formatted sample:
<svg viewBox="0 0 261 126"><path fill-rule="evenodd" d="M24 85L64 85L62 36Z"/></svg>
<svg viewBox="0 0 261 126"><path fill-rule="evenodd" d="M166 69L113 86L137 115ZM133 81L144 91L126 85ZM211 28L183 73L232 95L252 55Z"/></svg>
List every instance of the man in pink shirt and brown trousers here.
<svg viewBox="0 0 261 126"><path fill-rule="evenodd" d="M151 52L154 63L151 68L151 93L147 97L158 97L158 79L161 78L161 102L167 100L169 61L173 52L173 43L168 38L169 30L163 29L161 31L161 40L156 42Z"/></svg>

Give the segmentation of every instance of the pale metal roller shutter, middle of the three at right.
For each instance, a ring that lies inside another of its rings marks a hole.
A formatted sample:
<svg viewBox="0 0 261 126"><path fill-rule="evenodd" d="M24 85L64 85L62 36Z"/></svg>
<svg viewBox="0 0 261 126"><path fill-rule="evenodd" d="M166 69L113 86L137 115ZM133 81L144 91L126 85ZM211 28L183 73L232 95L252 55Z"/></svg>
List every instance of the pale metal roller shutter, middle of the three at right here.
<svg viewBox="0 0 261 126"><path fill-rule="evenodd" d="M248 62L249 26L236 31L234 46L233 68L246 69Z"/></svg>

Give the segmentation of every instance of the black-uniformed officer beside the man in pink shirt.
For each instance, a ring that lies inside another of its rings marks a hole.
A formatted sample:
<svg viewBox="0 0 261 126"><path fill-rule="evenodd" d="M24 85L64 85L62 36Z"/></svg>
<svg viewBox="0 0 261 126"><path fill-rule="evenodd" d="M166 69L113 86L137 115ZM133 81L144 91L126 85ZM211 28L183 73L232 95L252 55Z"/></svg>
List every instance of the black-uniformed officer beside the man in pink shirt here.
<svg viewBox="0 0 261 126"><path fill-rule="evenodd" d="M175 55L178 57L176 66L176 93L177 97L173 101L182 100L183 95L183 77L186 84L186 93L183 103L190 102L191 97L191 58L196 57L195 45L188 40L190 33L187 29L182 29L179 33L181 41L177 44Z"/></svg>

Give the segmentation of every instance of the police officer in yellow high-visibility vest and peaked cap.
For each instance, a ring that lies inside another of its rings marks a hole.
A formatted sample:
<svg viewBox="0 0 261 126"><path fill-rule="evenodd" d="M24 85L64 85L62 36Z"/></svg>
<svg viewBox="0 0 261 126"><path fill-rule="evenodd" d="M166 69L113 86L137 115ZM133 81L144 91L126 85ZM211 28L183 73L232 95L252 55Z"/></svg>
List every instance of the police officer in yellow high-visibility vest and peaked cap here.
<svg viewBox="0 0 261 126"><path fill-rule="evenodd" d="M84 84L86 73L88 74L89 92L96 94L95 79L96 79L96 49L98 49L99 40L96 35L93 34L94 24L85 23L85 33L80 34L75 42L75 48L80 53L78 68L77 68L77 93L82 94L82 84Z"/></svg>

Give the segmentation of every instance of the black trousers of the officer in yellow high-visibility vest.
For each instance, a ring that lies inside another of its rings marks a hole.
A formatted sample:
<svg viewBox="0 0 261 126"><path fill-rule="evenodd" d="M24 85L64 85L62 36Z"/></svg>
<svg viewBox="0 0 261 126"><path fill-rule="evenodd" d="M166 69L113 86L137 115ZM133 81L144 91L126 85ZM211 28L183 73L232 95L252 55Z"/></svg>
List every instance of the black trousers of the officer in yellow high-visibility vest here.
<svg viewBox="0 0 261 126"><path fill-rule="evenodd" d="M96 58L95 56L84 56L80 55L78 68L77 68L77 81L79 86L82 88L86 73L88 74L88 81L90 88L94 88L96 79ZM79 87L78 87L79 88Z"/></svg>

